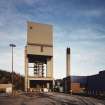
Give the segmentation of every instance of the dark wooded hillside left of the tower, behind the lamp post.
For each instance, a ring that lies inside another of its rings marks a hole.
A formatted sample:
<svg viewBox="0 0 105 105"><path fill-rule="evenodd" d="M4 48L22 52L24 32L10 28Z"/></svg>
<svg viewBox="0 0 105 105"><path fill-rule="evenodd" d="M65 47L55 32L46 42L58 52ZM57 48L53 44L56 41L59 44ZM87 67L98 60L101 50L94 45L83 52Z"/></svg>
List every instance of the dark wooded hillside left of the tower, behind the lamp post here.
<svg viewBox="0 0 105 105"><path fill-rule="evenodd" d="M0 69L0 84L11 83L12 73ZM15 89L24 90L24 76L13 72L13 84Z"/></svg>

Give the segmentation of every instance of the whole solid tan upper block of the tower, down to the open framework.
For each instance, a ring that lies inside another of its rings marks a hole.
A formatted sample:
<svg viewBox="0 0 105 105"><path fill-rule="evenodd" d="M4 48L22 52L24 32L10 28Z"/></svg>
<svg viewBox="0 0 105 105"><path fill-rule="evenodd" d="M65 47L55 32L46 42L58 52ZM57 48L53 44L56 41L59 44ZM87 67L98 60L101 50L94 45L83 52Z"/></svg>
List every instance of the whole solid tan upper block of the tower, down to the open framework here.
<svg viewBox="0 0 105 105"><path fill-rule="evenodd" d="M52 26L28 22L27 54L53 56Z"/></svg>

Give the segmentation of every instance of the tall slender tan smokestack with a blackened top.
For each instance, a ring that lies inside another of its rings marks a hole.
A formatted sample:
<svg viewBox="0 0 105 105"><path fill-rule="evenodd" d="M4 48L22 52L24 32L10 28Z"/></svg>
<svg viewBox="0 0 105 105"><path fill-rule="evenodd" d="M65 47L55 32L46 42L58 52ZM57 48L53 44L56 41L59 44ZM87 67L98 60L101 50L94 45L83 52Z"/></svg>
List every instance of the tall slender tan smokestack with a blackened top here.
<svg viewBox="0 0 105 105"><path fill-rule="evenodd" d="M66 77L70 76L70 48L66 49Z"/></svg>

